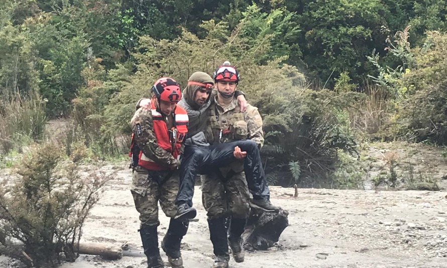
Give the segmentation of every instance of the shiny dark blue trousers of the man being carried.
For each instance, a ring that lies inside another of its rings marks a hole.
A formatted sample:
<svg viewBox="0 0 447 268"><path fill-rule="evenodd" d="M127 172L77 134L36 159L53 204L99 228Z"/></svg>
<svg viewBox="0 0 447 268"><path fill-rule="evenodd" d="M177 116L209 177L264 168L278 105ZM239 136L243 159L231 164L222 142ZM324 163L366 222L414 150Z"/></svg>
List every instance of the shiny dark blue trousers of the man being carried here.
<svg viewBox="0 0 447 268"><path fill-rule="evenodd" d="M244 158L244 171L248 188L253 198L269 198L270 192L258 145L252 140L238 140L219 143L209 147L198 147L195 145L185 147L180 164L180 186L175 204L186 203L192 206L195 177L198 174L206 174L216 168L225 167L237 160L233 155L236 146L247 152L247 156Z"/></svg>

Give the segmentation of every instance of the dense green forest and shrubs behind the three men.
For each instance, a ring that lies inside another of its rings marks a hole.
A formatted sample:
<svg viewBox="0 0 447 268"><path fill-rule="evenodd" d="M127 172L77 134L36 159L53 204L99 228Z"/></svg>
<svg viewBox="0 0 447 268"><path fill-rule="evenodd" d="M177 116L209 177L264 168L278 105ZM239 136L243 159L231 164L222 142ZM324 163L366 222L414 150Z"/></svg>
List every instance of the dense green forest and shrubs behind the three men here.
<svg viewBox="0 0 447 268"><path fill-rule="evenodd" d="M447 144L446 16L442 0L3 0L0 162L61 118L67 156L125 157L158 77L229 60L271 185L361 188L368 142ZM388 160L378 184L395 184Z"/></svg>

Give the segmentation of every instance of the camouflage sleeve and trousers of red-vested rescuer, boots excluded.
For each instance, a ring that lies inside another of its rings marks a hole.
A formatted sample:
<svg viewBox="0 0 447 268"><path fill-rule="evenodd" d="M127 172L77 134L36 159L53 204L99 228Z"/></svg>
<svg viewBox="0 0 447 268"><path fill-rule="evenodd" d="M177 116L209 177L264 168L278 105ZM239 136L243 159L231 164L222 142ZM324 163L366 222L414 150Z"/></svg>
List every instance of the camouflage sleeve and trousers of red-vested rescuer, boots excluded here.
<svg viewBox="0 0 447 268"><path fill-rule="evenodd" d="M138 105L137 105L138 107ZM139 124L139 126L137 126ZM169 125L169 123L168 123ZM153 120L150 110L140 108L131 120L135 143L150 159L161 165L175 163L171 153L157 144L153 131ZM138 128L141 128L140 135ZM168 126L170 128L170 126ZM141 225L158 226L158 202L167 217L174 217L177 212L175 197L179 185L178 172L173 170L148 170L141 166L134 168L131 192L135 207L140 212Z"/></svg>

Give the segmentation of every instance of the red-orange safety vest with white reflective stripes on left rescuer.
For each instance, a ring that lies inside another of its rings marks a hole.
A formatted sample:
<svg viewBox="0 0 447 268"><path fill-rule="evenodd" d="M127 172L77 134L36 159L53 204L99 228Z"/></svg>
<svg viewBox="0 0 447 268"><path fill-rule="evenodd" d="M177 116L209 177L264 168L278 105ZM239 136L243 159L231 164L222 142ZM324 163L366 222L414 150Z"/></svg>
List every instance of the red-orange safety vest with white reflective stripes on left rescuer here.
<svg viewBox="0 0 447 268"><path fill-rule="evenodd" d="M154 124L154 133L157 138L157 144L164 150L170 152L174 158L180 155L181 143L186 137L188 132L188 113L180 106L176 106L173 112L174 115L174 127L168 131L167 125L161 113L157 111L155 102L152 102L152 119ZM175 141L173 141L175 139ZM171 143L171 141L173 141ZM134 135L132 134L131 153L138 153L138 165L149 170L166 170L166 165L155 162L147 157L142 150L133 150L137 146L134 143Z"/></svg>

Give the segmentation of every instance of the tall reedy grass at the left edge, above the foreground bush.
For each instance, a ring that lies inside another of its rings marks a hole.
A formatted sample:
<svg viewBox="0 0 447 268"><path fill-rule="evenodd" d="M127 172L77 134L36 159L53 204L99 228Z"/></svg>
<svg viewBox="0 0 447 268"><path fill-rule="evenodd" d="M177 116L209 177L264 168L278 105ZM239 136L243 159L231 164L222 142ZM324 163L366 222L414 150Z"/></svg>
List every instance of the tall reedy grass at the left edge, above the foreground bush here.
<svg viewBox="0 0 447 268"><path fill-rule="evenodd" d="M0 99L0 152L21 150L31 141L43 140L47 122L45 104L37 91Z"/></svg>

